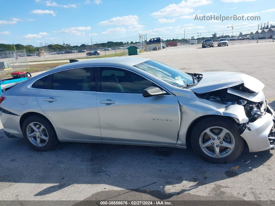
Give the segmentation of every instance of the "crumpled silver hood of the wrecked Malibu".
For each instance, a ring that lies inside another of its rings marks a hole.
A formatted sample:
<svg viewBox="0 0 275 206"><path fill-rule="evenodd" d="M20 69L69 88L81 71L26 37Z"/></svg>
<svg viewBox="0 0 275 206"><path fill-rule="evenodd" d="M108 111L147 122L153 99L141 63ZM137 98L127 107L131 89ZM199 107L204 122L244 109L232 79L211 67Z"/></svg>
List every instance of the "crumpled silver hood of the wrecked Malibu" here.
<svg viewBox="0 0 275 206"><path fill-rule="evenodd" d="M237 86L244 83L248 89L259 93L265 86L258 79L238 72L202 72L202 79L190 90L198 94Z"/></svg>

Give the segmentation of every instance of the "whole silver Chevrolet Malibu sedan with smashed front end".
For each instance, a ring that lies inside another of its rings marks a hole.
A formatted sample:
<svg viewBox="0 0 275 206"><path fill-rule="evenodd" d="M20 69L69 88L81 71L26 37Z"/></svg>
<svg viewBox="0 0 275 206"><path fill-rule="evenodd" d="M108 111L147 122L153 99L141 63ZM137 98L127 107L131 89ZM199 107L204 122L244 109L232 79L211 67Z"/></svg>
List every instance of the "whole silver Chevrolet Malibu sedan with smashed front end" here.
<svg viewBox="0 0 275 206"><path fill-rule="evenodd" d="M38 151L61 142L166 146L211 163L274 147L264 84L235 72L185 73L137 57L61 65L0 97L4 133Z"/></svg>

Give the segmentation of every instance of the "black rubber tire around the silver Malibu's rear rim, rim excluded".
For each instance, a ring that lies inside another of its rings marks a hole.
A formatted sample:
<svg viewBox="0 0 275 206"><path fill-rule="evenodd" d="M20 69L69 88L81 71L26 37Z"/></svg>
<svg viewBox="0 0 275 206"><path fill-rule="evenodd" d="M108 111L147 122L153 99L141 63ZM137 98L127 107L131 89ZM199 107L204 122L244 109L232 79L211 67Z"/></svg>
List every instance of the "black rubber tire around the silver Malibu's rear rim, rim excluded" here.
<svg viewBox="0 0 275 206"><path fill-rule="evenodd" d="M27 126L32 122L41 123L46 128L46 131L48 133L48 142L44 146L38 147L38 146L32 144L31 141L28 139L28 137L27 137ZM51 125L51 123L49 122L49 120L46 119L43 116L40 116L40 115L32 115L32 116L27 117L27 119L24 121L24 123L22 125L22 132L23 132L24 139L26 140L28 145L30 147L32 147L33 149L38 150L38 151L51 150L59 142L58 138L56 136L56 132L55 132L53 126Z"/></svg>

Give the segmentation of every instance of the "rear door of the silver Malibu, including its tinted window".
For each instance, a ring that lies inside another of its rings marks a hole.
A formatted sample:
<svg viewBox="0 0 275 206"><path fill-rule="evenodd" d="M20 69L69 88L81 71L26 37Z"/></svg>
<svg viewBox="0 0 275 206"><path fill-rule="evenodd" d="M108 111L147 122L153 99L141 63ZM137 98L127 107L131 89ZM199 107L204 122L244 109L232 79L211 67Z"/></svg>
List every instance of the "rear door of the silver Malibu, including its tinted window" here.
<svg viewBox="0 0 275 206"><path fill-rule="evenodd" d="M37 95L40 108L66 138L101 140L94 67L48 75Z"/></svg>

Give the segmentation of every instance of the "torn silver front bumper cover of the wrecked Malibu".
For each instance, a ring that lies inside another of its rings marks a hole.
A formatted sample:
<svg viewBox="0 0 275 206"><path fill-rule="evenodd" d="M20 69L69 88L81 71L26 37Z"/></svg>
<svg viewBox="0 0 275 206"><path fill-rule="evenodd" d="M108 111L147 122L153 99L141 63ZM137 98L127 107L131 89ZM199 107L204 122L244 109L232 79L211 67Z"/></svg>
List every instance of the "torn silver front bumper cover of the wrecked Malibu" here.
<svg viewBox="0 0 275 206"><path fill-rule="evenodd" d="M241 136L248 144L249 152L260 152L274 147L268 140L274 125L273 118L272 114L266 113L262 118L248 124Z"/></svg>

